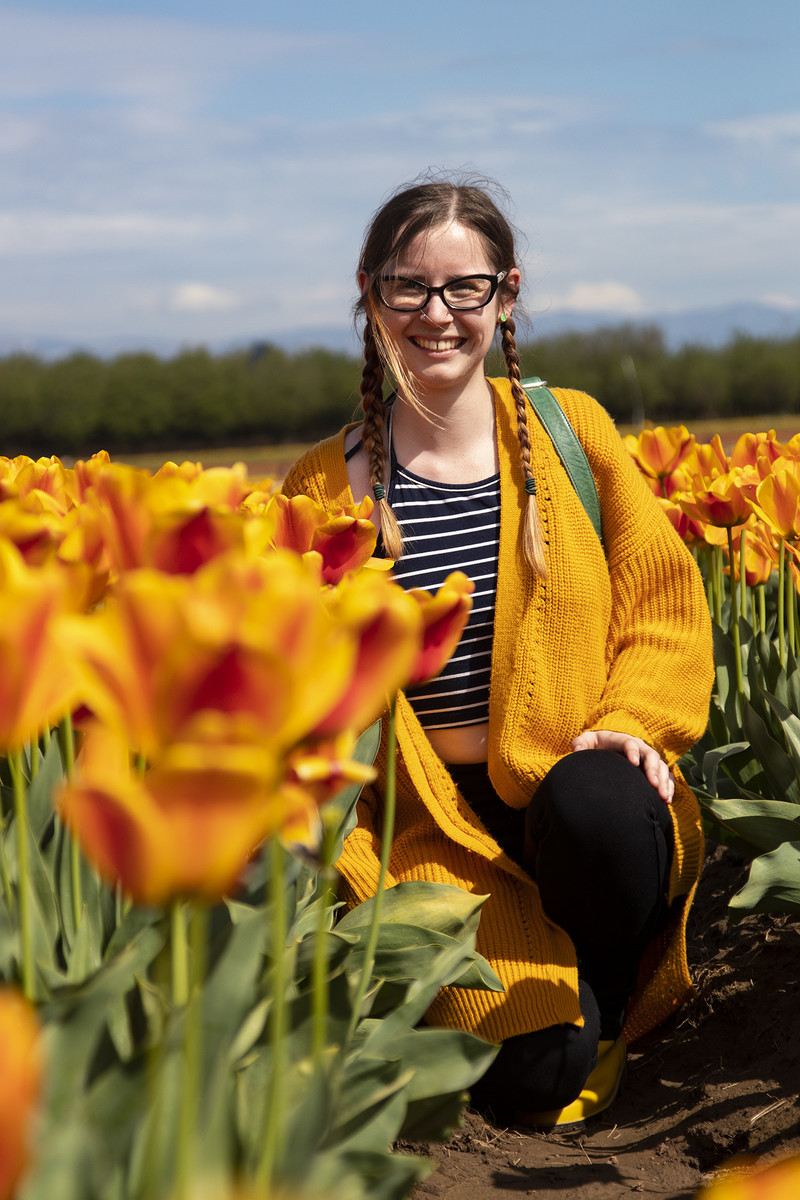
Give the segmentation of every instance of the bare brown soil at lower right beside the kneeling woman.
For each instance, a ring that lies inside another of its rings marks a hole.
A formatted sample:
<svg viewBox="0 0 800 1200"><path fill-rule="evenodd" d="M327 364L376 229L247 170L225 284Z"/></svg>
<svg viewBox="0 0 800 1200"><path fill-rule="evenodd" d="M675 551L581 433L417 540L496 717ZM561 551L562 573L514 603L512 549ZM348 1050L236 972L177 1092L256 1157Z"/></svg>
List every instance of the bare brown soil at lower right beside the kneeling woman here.
<svg viewBox="0 0 800 1200"><path fill-rule="evenodd" d="M607 1112L570 1138L468 1110L446 1145L423 1147L437 1170L414 1200L688 1200L735 1157L800 1152L800 917L729 922L746 875L709 845L690 918L697 996L630 1049Z"/></svg>

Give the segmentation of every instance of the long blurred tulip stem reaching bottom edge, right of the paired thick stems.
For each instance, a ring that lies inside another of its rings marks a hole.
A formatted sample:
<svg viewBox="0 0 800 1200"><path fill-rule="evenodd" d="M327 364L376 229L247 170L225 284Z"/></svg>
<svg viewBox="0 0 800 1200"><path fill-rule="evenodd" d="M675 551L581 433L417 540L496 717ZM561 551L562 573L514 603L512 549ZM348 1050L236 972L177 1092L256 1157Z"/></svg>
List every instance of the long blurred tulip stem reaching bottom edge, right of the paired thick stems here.
<svg viewBox="0 0 800 1200"><path fill-rule="evenodd" d="M285 1030L287 1030L287 902L283 877L283 847L277 838L269 844L270 851L270 905L272 972L270 1004L270 1081L266 1088L264 1110L264 1139L261 1160L255 1176L255 1186L267 1190L273 1182L275 1160L283 1145L283 1116L285 1098Z"/></svg>

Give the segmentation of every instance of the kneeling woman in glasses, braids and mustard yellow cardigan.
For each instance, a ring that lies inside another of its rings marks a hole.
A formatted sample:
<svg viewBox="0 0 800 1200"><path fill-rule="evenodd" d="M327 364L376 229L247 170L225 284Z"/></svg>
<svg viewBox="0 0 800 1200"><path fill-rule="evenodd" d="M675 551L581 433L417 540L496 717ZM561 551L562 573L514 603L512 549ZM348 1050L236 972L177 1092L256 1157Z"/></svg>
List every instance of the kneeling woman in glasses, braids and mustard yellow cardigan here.
<svg viewBox="0 0 800 1200"><path fill-rule="evenodd" d="M363 420L305 455L284 492L330 509L372 496L402 586L434 590L455 569L476 584L446 671L398 698L390 883L489 896L477 944L505 992L443 989L428 1020L503 1044L483 1103L579 1128L613 1100L626 1042L691 990L703 841L675 763L708 714L702 582L604 410L555 390L603 550L519 384L521 271L485 188L397 192L357 282ZM487 379L498 329L509 378ZM377 887L385 766L381 749L338 863L353 902Z"/></svg>

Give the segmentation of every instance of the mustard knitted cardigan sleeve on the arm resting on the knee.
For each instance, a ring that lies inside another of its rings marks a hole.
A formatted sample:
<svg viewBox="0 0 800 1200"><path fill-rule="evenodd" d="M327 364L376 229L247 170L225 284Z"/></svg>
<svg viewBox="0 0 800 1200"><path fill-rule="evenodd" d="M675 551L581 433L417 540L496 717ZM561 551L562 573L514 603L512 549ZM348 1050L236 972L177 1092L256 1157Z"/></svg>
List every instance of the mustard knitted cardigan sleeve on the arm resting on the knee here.
<svg viewBox="0 0 800 1200"><path fill-rule="evenodd" d="M604 409L576 392L560 398L595 474L613 596L608 680L587 728L640 737L673 766L708 721L714 649L703 581Z"/></svg>

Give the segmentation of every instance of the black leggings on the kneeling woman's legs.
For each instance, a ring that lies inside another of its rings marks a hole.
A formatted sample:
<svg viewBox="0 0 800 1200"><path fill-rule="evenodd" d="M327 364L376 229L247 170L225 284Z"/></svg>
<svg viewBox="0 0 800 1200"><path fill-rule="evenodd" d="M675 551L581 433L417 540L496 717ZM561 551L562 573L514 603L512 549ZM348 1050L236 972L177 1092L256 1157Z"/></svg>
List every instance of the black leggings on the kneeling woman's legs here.
<svg viewBox="0 0 800 1200"><path fill-rule="evenodd" d="M499 799L485 763L449 769L572 938L584 1018L583 1028L553 1025L509 1038L474 1097L495 1106L561 1108L594 1068L597 1040L618 1037L639 960L664 917L669 810L640 768L609 750L559 760L522 811Z"/></svg>

